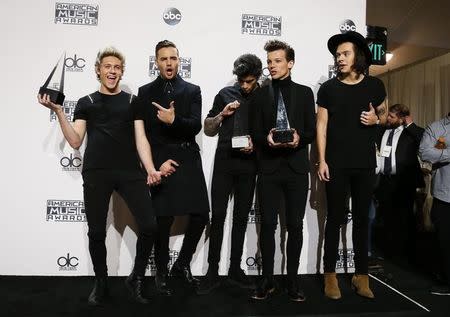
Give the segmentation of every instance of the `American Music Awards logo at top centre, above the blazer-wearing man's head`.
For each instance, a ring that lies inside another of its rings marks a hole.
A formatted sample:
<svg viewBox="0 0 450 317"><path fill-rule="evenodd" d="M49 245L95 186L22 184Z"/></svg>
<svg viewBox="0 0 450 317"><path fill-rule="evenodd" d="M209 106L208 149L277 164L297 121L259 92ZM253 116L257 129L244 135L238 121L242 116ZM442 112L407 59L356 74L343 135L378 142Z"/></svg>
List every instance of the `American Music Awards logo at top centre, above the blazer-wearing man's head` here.
<svg viewBox="0 0 450 317"><path fill-rule="evenodd" d="M242 14L242 34L281 36L281 16Z"/></svg>

